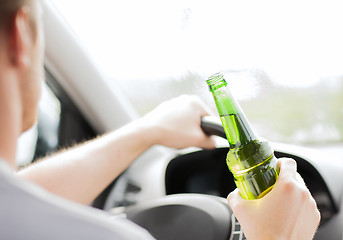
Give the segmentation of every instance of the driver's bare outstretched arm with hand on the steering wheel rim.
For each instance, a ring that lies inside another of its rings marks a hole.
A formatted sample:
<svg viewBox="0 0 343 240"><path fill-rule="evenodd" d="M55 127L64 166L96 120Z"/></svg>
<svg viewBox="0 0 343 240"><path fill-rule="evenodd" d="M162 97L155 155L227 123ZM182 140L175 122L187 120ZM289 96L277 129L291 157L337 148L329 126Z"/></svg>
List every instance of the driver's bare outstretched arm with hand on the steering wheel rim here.
<svg viewBox="0 0 343 240"><path fill-rule="evenodd" d="M205 115L208 110L198 98L181 96L114 132L39 161L17 174L57 195L89 204L155 144L213 148L213 139L200 128L200 118Z"/></svg>

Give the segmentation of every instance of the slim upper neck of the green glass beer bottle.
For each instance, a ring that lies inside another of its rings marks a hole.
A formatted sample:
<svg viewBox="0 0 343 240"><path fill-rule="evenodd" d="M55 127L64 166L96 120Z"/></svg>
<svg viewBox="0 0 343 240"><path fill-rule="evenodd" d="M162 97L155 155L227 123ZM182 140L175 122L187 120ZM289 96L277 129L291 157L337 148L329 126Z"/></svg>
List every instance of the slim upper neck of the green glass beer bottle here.
<svg viewBox="0 0 343 240"><path fill-rule="evenodd" d="M232 97L224 77L212 83L208 80L207 83L213 94L230 147L239 147L256 140L247 118Z"/></svg>

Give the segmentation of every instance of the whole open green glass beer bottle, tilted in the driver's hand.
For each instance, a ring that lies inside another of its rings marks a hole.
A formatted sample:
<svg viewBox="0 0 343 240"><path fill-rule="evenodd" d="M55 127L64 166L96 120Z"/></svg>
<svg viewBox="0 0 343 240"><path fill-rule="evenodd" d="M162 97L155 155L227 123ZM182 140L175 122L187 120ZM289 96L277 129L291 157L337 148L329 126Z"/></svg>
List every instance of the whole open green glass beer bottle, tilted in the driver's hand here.
<svg viewBox="0 0 343 240"><path fill-rule="evenodd" d="M267 141L256 137L240 106L232 97L223 74L207 80L223 124L230 150L226 163L245 199L263 197L278 177L277 160Z"/></svg>

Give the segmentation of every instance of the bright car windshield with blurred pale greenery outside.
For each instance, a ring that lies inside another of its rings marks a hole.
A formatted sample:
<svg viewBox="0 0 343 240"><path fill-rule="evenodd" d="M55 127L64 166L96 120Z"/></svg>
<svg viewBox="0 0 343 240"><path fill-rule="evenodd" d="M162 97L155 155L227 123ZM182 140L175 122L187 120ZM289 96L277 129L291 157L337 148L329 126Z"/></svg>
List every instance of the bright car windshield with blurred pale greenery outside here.
<svg viewBox="0 0 343 240"><path fill-rule="evenodd" d="M223 72L255 131L343 140L340 1L54 0L108 79L143 115Z"/></svg>

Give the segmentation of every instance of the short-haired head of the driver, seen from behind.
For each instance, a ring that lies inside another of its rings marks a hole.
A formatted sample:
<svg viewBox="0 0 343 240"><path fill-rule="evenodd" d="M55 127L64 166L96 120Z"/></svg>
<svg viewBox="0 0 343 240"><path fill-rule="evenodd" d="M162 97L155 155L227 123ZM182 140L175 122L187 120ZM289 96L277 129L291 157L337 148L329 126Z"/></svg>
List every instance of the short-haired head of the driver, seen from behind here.
<svg viewBox="0 0 343 240"><path fill-rule="evenodd" d="M44 41L37 0L0 0L0 70L15 79L21 131L36 121L43 78ZM1 84L1 87L8 83ZM13 97L14 98L14 97Z"/></svg>

